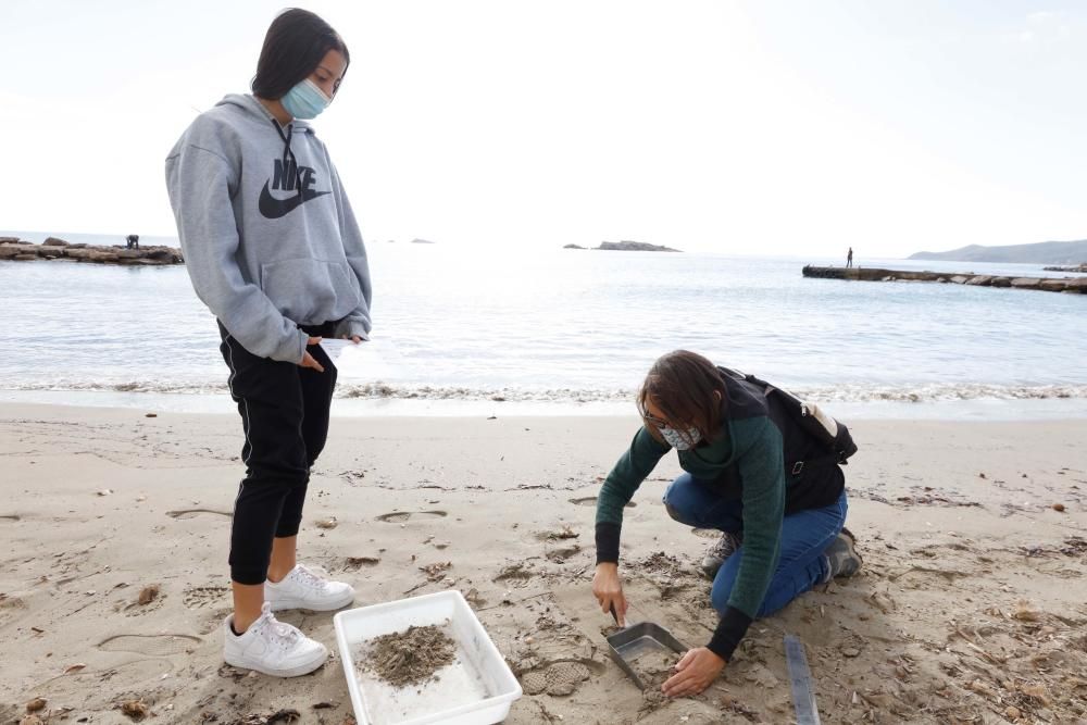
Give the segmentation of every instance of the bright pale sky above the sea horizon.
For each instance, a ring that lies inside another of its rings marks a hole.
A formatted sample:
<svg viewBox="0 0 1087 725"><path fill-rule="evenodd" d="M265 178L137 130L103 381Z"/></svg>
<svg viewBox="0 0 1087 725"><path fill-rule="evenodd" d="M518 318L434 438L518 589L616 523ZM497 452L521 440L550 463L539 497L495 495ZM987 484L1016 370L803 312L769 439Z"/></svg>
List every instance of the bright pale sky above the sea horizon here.
<svg viewBox="0 0 1087 725"><path fill-rule="evenodd" d="M0 0L0 228L173 235L163 163L280 2ZM300 4L371 241L903 257L1087 238L1087 3Z"/></svg>

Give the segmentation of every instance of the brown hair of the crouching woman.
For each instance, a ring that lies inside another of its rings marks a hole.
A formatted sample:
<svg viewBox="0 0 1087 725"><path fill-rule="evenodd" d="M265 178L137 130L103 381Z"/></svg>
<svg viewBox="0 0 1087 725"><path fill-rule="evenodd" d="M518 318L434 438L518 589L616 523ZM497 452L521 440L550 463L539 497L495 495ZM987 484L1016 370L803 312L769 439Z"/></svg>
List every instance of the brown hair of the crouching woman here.
<svg viewBox="0 0 1087 725"><path fill-rule="evenodd" d="M725 383L716 366L697 352L675 350L649 368L638 391L638 410L645 417L646 405L652 401L682 436L695 427L703 440L713 440L721 433L724 399ZM655 425L647 427L661 439Z"/></svg>

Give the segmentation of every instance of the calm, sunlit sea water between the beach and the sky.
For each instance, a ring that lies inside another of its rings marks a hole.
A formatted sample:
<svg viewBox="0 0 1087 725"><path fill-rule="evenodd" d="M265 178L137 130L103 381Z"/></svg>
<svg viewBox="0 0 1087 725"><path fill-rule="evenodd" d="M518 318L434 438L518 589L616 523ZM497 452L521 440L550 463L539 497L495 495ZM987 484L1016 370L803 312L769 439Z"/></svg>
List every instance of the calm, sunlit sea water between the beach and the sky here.
<svg viewBox="0 0 1087 725"><path fill-rule="evenodd" d="M1034 400L1087 414L1083 295L803 278L804 264L841 262L822 258L512 241L499 251L380 242L370 257L372 342L340 371L339 413L629 412L653 360L683 348L834 402L835 413L891 401L985 416ZM0 400L229 409L215 321L184 266L0 262Z"/></svg>

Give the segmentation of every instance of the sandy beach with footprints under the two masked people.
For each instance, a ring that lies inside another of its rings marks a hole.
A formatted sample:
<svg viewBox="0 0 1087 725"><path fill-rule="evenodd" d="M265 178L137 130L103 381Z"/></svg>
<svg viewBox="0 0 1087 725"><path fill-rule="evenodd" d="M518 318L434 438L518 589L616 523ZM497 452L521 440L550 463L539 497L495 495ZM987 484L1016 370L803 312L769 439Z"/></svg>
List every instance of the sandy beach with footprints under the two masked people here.
<svg viewBox="0 0 1087 725"><path fill-rule="evenodd" d="M509 723L792 722L786 633L824 723L1087 722L1087 421L852 422L861 574L755 623L713 687L674 701L608 659L590 593L595 497L637 424L336 418L300 558L358 605L458 588L523 683L575 673ZM0 432L0 722L35 698L47 723L134 722L126 701L158 723L353 722L335 655L293 680L222 662L237 416L5 404ZM627 509L621 571L633 620L701 646L711 538L665 515L677 473L670 457ZM335 652L330 613L282 618Z"/></svg>

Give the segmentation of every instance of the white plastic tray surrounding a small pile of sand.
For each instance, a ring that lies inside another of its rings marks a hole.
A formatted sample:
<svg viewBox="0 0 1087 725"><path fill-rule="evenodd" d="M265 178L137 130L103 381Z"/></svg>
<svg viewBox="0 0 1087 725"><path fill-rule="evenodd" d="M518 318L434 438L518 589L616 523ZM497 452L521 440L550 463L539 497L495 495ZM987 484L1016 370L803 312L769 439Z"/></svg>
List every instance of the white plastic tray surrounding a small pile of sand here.
<svg viewBox="0 0 1087 725"><path fill-rule="evenodd" d="M491 725L521 697L521 683L455 589L347 610L333 622L359 725ZM436 679L398 689L357 670L362 642L432 624L457 643L453 663L435 673Z"/></svg>

